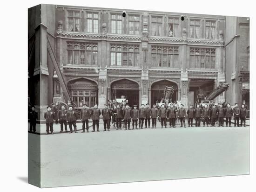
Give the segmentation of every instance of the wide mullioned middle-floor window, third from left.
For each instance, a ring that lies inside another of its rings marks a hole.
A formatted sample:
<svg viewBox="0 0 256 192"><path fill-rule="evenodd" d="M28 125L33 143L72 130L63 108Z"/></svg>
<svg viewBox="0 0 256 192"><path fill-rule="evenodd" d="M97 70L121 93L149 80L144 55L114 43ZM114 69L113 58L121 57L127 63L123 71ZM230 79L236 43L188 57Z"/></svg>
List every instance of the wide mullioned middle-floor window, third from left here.
<svg viewBox="0 0 256 192"><path fill-rule="evenodd" d="M152 46L152 64L158 67L179 67L178 47Z"/></svg>

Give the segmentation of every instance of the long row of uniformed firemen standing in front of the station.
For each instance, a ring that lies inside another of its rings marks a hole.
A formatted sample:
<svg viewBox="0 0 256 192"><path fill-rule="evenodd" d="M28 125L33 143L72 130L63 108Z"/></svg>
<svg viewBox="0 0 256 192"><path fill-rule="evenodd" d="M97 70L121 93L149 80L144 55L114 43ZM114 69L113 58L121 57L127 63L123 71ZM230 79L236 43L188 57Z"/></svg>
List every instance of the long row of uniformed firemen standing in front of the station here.
<svg viewBox="0 0 256 192"><path fill-rule="evenodd" d="M68 103L67 109L63 104L61 105L61 109L57 109L58 105L54 105L53 109L50 106L47 106L47 112L44 114L44 118L46 120L46 132L49 134L53 134L53 124L54 121L57 124L58 122L61 124L61 131L63 132L63 125L65 127L65 131L67 132L67 124L69 126L70 132L73 133L72 126L74 127L74 132L77 133L76 121L81 119L82 121L82 132L85 132L85 129L88 132L89 119L93 121L93 131L99 131L99 121L100 115L102 115L104 131L110 130L110 121L112 117L112 121L114 122L114 127L116 123L116 129L122 129L121 122L124 122L124 130L130 129L130 124L132 122L132 129L143 129L144 121L145 128L150 128L150 119L152 122L151 128L156 128L156 119L160 118L161 120L161 128L163 126L167 128L167 118L169 118L169 126L175 128L176 119L181 122L181 126L186 127L185 117L188 115L188 126L193 127L193 119L195 118L195 127L201 127L201 119L203 122L203 126L208 127L209 124L213 127L215 126L216 121L219 122L219 127L224 127L224 117L226 118L226 127L231 127L231 117L234 116L235 119L235 127L239 127L239 119L241 119L240 126L245 127L245 119L247 117L247 109L245 105L242 105L240 109L238 104L235 103L235 107L232 109L230 104L227 104L227 107L223 107L220 104L217 108L216 105L213 105L211 109L209 109L206 104L202 109L200 105L194 109L193 105L190 105L189 109L183 108L183 104L181 104L180 108L174 106L173 103L166 109L164 104L162 104L160 109L156 108L156 105L153 105L153 108L149 108L149 103L146 104L146 108L144 104L141 104L141 108L137 109L137 106L134 105L134 109L131 109L128 105L123 109L119 104L116 104L115 109L109 109L108 105L104 105L104 109L98 109L97 104L94 105L94 109L88 109L86 104L83 104L83 109L81 109L80 117L77 112L74 110L74 107ZM35 122L37 118L37 113L34 110L34 106L32 106L32 110L29 113L30 120L30 132L35 132ZM139 127L138 127L139 125Z"/></svg>

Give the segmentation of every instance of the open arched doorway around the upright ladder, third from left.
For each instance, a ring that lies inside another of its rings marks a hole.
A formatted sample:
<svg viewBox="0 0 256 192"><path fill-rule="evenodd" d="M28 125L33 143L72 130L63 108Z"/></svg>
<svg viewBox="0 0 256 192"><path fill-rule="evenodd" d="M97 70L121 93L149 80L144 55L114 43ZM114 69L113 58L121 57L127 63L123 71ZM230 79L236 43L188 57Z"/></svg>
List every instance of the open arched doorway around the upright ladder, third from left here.
<svg viewBox="0 0 256 192"><path fill-rule="evenodd" d="M151 85L151 103L150 106L153 106L154 103L160 102L163 97L163 91L166 88L166 86L174 87L174 93L172 95L171 100L173 102L177 101L178 98L178 86L176 83L170 82L168 80L162 80L155 82Z"/></svg>

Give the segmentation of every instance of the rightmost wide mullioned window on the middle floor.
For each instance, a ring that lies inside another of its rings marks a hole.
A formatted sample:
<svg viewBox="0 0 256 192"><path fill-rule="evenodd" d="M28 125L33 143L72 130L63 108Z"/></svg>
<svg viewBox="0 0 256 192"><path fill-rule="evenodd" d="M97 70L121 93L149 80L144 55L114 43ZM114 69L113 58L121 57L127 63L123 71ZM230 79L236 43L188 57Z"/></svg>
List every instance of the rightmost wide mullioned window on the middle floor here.
<svg viewBox="0 0 256 192"><path fill-rule="evenodd" d="M215 69L215 49L190 48L190 68Z"/></svg>

